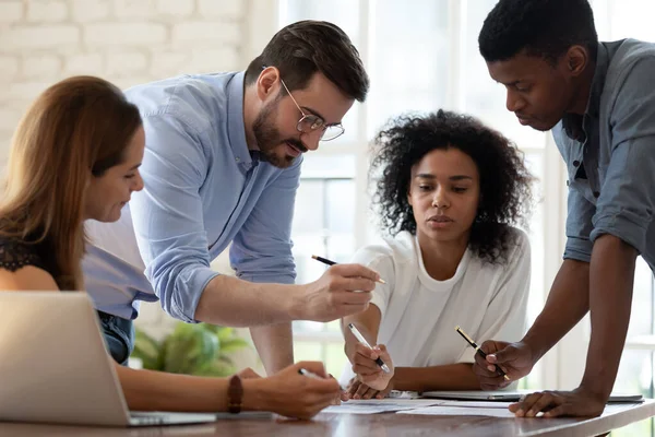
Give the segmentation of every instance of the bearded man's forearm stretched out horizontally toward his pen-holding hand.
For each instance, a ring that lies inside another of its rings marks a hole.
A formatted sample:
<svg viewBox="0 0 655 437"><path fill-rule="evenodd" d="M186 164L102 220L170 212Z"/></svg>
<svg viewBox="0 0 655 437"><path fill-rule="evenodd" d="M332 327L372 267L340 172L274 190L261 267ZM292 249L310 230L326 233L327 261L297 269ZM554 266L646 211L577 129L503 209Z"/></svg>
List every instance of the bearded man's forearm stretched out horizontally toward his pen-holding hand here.
<svg viewBox="0 0 655 437"><path fill-rule="evenodd" d="M228 327L290 322L297 292L298 285L258 284L219 274L202 292L194 318Z"/></svg>

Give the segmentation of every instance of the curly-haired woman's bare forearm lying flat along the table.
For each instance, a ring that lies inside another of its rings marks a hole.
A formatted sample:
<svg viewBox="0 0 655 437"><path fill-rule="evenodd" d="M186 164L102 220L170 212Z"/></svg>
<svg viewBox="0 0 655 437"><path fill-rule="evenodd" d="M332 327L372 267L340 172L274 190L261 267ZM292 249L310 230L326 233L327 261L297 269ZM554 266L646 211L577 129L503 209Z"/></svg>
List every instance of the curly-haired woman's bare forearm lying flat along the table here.
<svg viewBox="0 0 655 437"><path fill-rule="evenodd" d="M396 367L393 388L401 391L479 390L480 382L471 364L432 367Z"/></svg>

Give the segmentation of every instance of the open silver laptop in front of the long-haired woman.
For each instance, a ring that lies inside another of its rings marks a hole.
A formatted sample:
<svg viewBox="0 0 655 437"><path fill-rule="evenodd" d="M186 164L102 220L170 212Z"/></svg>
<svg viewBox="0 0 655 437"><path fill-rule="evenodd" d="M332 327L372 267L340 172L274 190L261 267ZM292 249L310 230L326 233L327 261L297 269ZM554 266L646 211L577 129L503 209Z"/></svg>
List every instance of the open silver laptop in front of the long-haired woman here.
<svg viewBox="0 0 655 437"><path fill-rule="evenodd" d="M0 292L0 421L143 426L216 414L130 412L86 293Z"/></svg>

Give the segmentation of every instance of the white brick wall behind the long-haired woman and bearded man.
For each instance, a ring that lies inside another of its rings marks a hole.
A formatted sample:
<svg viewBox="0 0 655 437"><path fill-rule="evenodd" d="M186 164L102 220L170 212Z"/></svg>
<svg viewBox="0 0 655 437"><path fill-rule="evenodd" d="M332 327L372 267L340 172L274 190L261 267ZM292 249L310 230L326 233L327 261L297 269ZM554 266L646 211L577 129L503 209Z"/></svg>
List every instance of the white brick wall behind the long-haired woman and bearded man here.
<svg viewBox="0 0 655 437"><path fill-rule="evenodd" d="M246 68L253 52L247 10L260 13L259 1L0 0L0 167L20 117L56 81L94 74L128 87ZM216 268L229 269L225 261ZM144 305L138 319L159 335L171 321L158 304Z"/></svg>

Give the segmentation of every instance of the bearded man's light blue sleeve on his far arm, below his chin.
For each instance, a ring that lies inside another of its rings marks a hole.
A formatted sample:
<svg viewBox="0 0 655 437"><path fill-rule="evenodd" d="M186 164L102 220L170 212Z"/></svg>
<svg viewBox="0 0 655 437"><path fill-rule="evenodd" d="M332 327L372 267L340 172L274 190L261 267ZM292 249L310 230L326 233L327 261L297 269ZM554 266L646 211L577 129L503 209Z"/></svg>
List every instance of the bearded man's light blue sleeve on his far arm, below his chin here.
<svg viewBox="0 0 655 437"><path fill-rule="evenodd" d="M250 282L293 284L291 222L302 158L263 190L233 240L229 258L238 277Z"/></svg>

